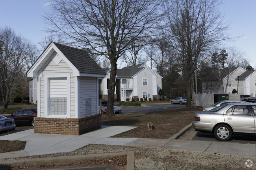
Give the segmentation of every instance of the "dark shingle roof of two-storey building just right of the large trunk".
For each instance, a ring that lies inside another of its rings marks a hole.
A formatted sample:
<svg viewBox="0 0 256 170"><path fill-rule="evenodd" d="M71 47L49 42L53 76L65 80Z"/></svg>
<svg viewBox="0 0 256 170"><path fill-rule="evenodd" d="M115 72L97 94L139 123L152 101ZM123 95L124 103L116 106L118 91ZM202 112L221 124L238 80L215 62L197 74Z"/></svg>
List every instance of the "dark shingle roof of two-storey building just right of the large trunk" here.
<svg viewBox="0 0 256 170"><path fill-rule="evenodd" d="M132 77L143 69L143 68L139 68L141 65L143 64L124 67L122 69L117 69L117 77Z"/></svg>

